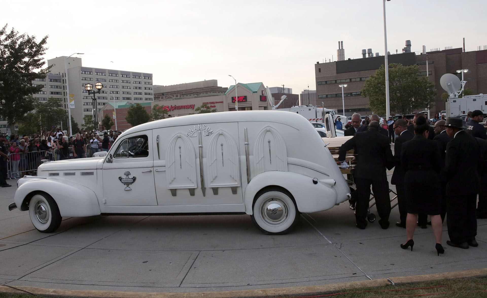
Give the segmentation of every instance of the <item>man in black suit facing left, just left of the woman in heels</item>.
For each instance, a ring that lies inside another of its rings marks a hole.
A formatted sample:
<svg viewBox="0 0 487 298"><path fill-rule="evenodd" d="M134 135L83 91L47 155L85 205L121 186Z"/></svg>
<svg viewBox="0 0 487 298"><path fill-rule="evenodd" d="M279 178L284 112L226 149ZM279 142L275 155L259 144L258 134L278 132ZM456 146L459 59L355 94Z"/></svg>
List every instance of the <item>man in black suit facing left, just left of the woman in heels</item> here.
<svg viewBox="0 0 487 298"><path fill-rule="evenodd" d="M399 208L399 219L396 222L396 226L406 228L406 198L404 196L404 169L401 166L401 149L402 144L411 140L414 137L410 131L408 131L408 122L403 119L398 119L394 122L394 132L398 136L394 143L394 172L391 178L391 184L396 186L397 193L397 206Z"/></svg>

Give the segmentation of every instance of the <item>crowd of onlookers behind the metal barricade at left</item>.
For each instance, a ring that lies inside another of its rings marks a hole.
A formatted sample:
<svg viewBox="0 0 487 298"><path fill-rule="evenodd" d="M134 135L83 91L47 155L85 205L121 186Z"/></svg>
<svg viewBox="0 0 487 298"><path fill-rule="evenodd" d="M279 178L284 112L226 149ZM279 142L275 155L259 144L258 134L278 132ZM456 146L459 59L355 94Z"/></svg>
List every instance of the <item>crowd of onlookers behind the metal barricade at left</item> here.
<svg viewBox="0 0 487 298"><path fill-rule="evenodd" d="M0 186L9 187L7 178L34 175L42 159L62 160L92 157L95 152L108 151L121 131L110 130L103 137L90 132L68 136L60 128L43 128L31 136L0 135Z"/></svg>

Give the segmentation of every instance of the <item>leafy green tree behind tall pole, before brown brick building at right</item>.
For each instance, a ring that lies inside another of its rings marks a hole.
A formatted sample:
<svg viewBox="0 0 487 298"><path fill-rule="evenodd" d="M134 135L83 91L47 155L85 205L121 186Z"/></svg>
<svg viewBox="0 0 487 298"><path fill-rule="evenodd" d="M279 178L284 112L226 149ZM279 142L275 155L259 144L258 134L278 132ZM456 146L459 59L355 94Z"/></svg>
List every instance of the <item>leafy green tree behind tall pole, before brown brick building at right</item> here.
<svg viewBox="0 0 487 298"><path fill-rule="evenodd" d="M419 65L404 66L389 64L389 99L391 111L410 114L418 108L425 108L434 103L436 90L434 83L426 77L418 76ZM377 114L386 112L385 68L381 65L368 79L362 96L369 98L370 108Z"/></svg>

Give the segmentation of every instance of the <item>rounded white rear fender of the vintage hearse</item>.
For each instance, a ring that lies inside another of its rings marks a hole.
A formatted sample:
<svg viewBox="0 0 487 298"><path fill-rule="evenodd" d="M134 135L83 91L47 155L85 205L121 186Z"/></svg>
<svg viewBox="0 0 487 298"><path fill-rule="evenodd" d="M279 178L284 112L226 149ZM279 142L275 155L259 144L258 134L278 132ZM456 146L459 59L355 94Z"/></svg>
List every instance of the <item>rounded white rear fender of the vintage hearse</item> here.
<svg viewBox="0 0 487 298"><path fill-rule="evenodd" d="M328 210L337 203L337 191L333 179L318 180L294 172L269 171L261 173L250 180L245 188L245 212L253 213L255 195L267 186L279 186L294 197L300 212L318 212Z"/></svg>

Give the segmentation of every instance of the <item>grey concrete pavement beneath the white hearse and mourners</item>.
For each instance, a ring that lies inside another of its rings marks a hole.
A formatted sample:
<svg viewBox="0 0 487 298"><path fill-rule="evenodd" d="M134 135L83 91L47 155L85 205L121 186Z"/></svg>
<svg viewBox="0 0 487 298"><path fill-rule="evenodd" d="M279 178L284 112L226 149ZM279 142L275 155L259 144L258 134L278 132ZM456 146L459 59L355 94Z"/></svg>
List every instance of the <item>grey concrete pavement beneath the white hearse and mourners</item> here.
<svg viewBox="0 0 487 298"><path fill-rule="evenodd" d="M388 172L392 175L392 172ZM15 180L10 182L15 185ZM479 247L446 245L436 255L431 226L406 230L355 226L348 203L303 214L288 235L266 236L247 215L96 216L64 219L43 234L28 213L8 211L16 187L0 193L0 284L70 290L210 292L318 286L487 267L487 219ZM376 214L375 207L372 212Z"/></svg>

